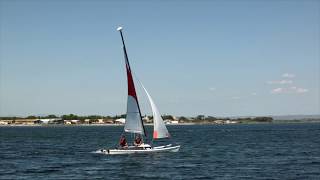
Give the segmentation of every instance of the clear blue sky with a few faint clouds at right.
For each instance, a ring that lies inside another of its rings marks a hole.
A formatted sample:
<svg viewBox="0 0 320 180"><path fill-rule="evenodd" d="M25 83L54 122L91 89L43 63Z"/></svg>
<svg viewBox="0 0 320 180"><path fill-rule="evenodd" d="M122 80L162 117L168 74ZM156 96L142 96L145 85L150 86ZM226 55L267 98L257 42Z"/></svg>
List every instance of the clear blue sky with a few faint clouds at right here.
<svg viewBox="0 0 320 180"><path fill-rule="evenodd" d="M162 114L320 114L320 1L0 0L0 116L124 114L120 25Z"/></svg>

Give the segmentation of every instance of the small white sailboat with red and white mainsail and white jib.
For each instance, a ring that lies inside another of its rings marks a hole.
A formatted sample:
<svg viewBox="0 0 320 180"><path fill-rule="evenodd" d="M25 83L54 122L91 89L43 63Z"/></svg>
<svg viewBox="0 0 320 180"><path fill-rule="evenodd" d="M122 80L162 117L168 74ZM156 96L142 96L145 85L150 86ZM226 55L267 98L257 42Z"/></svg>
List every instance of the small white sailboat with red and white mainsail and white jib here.
<svg viewBox="0 0 320 180"><path fill-rule="evenodd" d="M132 75L132 69L130 67L128 54L126 50L126 46L124 43L122 27L118 27L117 30L120 32L122 45L123 45L123 52L124 52L124 59L127 71L127 81L128 81L128 99L127 99L127 114L126 114L126 121L124 125L124 133L131 134L133 136L142 136L147 137L146 130L143 124L141 110L138 102L138 97L135 89L134 79ZM143 84L138 81L139 84L142 86L144 92L147 95L149 100L152 114L153 114L153 139L150 144L144 142L140 145L129 145L126 147L118 146L114 149L101 149L100 152L105 154L132 154L132 153L155 153L155 152L178 152L180 149L180 145L173 145L173 144L166 144L166 145L159 145L154 146L154 141L158 139L165 139L170 138L169 131L163 122L161 114L154 103L151 95L148 93L147 89L143 86ZM124 134L123 133L123 134Z"/></svg>

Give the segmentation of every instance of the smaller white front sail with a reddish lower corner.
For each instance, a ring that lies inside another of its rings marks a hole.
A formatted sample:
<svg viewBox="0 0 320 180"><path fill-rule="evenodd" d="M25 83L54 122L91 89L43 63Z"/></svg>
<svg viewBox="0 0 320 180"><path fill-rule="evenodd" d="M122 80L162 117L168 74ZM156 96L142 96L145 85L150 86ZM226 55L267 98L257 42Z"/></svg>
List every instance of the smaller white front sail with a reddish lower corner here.
<svg viewBox="0 0 320 180"><path fill-rule="evenodd" d="M147 97L150 102L150 106L152 109L152 114L153 114L153 139L160 139L160 138L169 138L170 134L168 132L168 129L166 125L163 122L163 119L161 117L161 114L154 103L153 99L151 98L150 94L148 93L147 89L143 86L143 84L140 82L143 90L146 92Z"/></svg>

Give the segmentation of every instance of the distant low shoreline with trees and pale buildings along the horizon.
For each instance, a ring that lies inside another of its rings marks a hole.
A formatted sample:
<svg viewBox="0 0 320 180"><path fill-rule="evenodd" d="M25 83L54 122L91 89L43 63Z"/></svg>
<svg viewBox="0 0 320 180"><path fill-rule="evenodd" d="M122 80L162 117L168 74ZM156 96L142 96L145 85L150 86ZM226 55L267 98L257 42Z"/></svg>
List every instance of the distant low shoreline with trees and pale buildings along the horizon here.
<svg viewBox="0 0 320 180"><path fill-rule="evenodd" d="M0 126L121 126L126 114L116 116L66 114L56 116L0 117ZM221 124L284 124L284 123L318 123L320 115L297 116L248 116L248 117L214 117L197 115L195 117L162 115L166 125L221 125ZM141 117L145 125L153 125L153 116Z"/></svg>

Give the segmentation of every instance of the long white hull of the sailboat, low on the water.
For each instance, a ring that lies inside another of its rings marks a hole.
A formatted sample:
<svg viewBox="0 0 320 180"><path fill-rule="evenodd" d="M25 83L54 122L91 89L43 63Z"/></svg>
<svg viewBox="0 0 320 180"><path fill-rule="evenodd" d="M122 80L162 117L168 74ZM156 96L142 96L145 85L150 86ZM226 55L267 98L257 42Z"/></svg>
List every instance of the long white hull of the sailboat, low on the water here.
<svg viewBox="0 0 320 180"><path fill-rule="evenodd" d="M102 154L135 154L135 153L158 153L158 152L178 152L180 145L172 146L171 144L166 146L156 146L146 149L101 149L97 153Z"/></svg>

